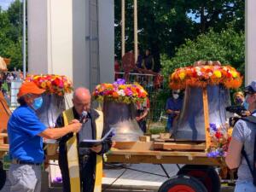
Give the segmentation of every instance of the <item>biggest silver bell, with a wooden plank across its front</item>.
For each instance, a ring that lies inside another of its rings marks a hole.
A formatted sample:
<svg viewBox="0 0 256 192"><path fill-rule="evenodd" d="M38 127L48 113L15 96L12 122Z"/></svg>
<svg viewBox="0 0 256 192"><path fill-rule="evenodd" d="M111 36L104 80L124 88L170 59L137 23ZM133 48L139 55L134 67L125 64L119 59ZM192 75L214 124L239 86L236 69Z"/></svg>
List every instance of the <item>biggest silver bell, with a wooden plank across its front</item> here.
<svg viewBox="0 0 256 192"><path fill-rule="evenodd" d="M172 137L176 140L205 141L203 90L188 86L184 93L183 108L177 123L173 125ZM207 85L209 123L224 125L229 113L230 91L223 85Z"/></svg>

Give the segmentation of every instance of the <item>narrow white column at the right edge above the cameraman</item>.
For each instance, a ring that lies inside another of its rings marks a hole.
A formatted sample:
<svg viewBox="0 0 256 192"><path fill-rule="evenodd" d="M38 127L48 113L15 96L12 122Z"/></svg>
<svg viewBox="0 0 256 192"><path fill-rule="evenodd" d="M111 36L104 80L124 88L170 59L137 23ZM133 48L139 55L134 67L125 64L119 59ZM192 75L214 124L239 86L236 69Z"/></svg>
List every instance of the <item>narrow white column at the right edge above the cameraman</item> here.
<svg viewBox="0 0 256 192"><path fill-rule="evenodd" d="M256 80L256 1L246 0L245 84Z"/></svg>

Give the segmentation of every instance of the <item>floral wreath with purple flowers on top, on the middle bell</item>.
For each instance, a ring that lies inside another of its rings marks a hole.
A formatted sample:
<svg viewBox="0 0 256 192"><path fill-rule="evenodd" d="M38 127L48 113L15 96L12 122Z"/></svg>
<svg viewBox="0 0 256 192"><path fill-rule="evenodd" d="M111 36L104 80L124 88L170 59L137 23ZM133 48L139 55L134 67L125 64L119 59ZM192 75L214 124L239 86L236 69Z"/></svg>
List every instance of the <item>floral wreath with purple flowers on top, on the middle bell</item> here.
<svg viewBox="0 0 256 192"><path fill-rule="evenodd" d="M148 93L140 84L125 84L125 79L117 79L113 84L98 84L92 95L98 102L109 100L130 104L144 102Z"/></svg>

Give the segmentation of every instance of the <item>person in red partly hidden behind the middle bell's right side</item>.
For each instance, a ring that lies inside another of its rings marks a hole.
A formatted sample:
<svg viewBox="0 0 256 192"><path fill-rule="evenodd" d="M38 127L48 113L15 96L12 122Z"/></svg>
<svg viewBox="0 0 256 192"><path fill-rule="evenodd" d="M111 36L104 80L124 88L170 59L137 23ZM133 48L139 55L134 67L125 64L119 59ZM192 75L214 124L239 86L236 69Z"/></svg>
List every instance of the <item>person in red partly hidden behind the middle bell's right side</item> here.
<svg viewBox="0 0 256 192"><path fill-rule="evenodd" d="M147 99L143 102L137 102L137 123L140 126L143 133L147 132L147 115L150 110L150 102L147 97Z"/></svg>

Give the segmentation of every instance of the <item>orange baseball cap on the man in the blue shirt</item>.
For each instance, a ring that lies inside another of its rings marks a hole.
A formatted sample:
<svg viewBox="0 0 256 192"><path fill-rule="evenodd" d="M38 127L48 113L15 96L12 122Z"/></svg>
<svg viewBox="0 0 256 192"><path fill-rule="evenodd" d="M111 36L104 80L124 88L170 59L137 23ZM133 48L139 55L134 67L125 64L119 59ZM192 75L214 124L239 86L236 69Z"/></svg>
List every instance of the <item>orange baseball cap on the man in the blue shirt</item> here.
<svg viewBox="0 0 256 192"><path fill-rule="evenodd" d="M20 98L20 96L25 96L26 94L30 94L30 93L40 95L44 93L44 91L45 90L40 89L38 85L35 84L34 82L25 81L23 84L21 84L20 90L17 96L18 98Z"/></svg>

